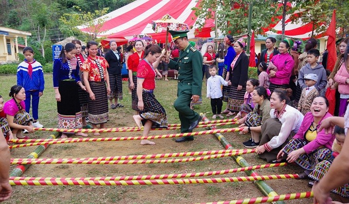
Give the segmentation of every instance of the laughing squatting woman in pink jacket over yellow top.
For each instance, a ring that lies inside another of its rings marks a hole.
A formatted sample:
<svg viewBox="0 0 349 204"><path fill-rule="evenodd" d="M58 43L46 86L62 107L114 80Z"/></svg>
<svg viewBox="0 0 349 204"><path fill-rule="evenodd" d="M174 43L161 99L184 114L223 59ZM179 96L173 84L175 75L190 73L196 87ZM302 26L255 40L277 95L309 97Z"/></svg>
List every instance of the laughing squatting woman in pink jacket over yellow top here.
<svg viewBox="0 0 349 204"><path fill-rule="evenodd" d="M319 161L331 159L331 147L335 138L333 134L325 134L325 130L317 131L322 120L332 116L328 112L327 98L315 97L310 110L305 114L297 134L277 155L277 159L287 157L289 163L295 162L305 169L298 174L299 179L307 179Z"/></svg>

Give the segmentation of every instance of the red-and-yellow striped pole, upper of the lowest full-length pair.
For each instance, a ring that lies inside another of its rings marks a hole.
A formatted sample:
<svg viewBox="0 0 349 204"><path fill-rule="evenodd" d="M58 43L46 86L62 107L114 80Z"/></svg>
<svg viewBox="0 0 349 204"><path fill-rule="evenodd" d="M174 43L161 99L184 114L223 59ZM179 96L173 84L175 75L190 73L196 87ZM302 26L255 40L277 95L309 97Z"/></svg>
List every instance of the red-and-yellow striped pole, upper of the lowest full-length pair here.
<svg viewBox="0 0 349 204"><path fill-rule="evenodd" d="M189 178L189 177L202 177L202 176L214 176L223 175L228 173L235 173L246 170L262 169L270 167L281 167L286 163L278 164L266 164L257 165L251 167L239 167L233 169L226 169L220 171L206 171L197 173L181 173L181 174L158 174L158 175L139 175L139 176L110 176L110 177L78 177L78 178L51 178L51 177L10 177L10 180L98 180L98 181L129 181L129 180L150 180L150 179L176 179L176 178Z"/></svg>

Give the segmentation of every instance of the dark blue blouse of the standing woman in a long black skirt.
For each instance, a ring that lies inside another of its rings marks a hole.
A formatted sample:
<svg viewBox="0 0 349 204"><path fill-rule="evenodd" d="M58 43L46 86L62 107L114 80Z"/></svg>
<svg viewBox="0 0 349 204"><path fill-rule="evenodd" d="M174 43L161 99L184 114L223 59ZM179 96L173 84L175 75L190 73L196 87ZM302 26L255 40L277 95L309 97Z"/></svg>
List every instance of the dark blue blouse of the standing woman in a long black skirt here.
<svg viewBox="0 0 349 204"><path fill-rule="evenodd" d="M63 63L62 57L55 59L53 73L54 88L58 88L58 81L65 79L74 79L76 83L81 82L79 65L75 57L70 60L67 59L65 63Z"/></svg>

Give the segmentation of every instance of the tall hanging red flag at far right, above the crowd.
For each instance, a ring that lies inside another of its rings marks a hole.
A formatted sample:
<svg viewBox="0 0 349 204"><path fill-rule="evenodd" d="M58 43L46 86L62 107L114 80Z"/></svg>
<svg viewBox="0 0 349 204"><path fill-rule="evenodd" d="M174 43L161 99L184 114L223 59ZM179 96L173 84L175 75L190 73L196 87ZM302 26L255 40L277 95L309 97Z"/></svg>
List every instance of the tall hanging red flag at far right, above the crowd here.
<svg viewBox="0 0 349 204"><path fill-rule="evenodd" d="M327 50L329 54L327 56L327 69L330 71L333 70L334 64L337 60L337 51L336 51L336 10L333 10L332 20L329 28L326 31L326 35L329 36L327 40Z"/></svg>

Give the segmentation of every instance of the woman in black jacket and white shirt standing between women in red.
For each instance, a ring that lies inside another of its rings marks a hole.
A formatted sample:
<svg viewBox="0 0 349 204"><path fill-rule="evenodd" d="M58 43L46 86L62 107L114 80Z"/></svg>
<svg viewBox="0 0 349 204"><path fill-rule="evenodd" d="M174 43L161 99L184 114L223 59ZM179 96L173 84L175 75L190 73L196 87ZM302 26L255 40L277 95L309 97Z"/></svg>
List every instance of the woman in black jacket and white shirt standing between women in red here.
<svg viewBox="0 0 349 204"><path fill-rule="evenodd" d="M110 83L110 94L108 99L110 101L110 108L122 108L122 104L118 103L118 99L122 100L122 55L117 50L117 44L115 41L110 41L110 51L106 54L106 60L108 61L108 74L109 74L109 83ZM113 99L115 99L113 103Z"/></svg>

